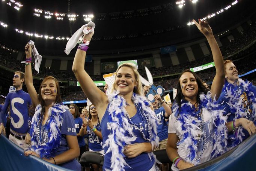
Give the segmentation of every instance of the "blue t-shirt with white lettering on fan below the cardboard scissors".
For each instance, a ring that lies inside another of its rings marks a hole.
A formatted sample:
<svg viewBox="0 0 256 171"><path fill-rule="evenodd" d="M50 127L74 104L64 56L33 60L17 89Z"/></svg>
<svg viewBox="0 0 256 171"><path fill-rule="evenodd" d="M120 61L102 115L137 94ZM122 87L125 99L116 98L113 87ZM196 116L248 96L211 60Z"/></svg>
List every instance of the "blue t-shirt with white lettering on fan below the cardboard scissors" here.
<svg viewBox="0 0 256 171"><path fill-rule="evenodd" d="M160 107L159 109L154 110L158 119L161 120L160 124L157 125L157 136L159 137L159 141L163 141L168 138L168 126L164 118L164 107Z"/></svg>

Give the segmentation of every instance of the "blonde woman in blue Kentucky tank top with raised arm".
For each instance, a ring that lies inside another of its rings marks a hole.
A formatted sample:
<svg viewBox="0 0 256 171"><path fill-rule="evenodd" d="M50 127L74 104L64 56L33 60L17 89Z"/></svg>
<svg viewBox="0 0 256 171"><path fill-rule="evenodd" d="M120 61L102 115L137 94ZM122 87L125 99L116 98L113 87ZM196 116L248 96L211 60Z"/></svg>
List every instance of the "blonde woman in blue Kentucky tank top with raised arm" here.
<svg viewBox="0 0 256 171"><path fill-rule="evenodd" d="M92 29L83 36L84 43L78 46L72 70L98 112L105 153L103 170L155 171L152 149L158 146L158 119L142 95L139 72L132 64L122 64L117 68L109 96L97 88L84 70L87 45L93 33Z"/></svg>

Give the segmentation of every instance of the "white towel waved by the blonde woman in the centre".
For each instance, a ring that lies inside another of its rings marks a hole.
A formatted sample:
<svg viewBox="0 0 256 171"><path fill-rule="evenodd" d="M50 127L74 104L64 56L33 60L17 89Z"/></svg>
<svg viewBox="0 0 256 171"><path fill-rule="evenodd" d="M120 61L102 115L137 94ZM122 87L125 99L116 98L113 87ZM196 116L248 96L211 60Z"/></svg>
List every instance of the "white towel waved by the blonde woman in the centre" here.
<svg viewBox="0 0 256 171"><path fill-rule="evenodd" d="M87 30L86 26L92 27L92 29ZM89 32L93 32L94 28L95 28L95 24L92 21L88 22L88 24L85 24L81 28L79 28L73 34L73 36L68 40L68 43L66 45L66 50L64 52L68 55L70 51L75 48L75 45L77 45L77 42L80 39L80 37L82 37L84 34L88 34Z"/></svg>

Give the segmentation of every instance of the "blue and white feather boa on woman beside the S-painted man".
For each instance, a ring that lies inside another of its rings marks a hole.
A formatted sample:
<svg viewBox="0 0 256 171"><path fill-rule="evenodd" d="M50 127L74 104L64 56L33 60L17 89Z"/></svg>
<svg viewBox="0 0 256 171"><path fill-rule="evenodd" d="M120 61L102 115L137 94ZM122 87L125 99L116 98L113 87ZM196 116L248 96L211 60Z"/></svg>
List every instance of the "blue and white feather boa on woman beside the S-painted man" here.
<svg viewBox="0 0 256 171"><path fill-rule="evenodd" d="M63 119L63 113L68 110L67 106L63 104L54 104L53 107L49 108L48 115L50 120L47 125L48 131L48 142L44 144L38 143L38 138L36 137L36 126L38 126L41 117L42 107L41 104L36 106L35 114L32 119L30 135L31 135L31 150L38 153L40 158L50 158L54 157L57 152L57 148L60 146L61 132L60 125Z"/></svg>

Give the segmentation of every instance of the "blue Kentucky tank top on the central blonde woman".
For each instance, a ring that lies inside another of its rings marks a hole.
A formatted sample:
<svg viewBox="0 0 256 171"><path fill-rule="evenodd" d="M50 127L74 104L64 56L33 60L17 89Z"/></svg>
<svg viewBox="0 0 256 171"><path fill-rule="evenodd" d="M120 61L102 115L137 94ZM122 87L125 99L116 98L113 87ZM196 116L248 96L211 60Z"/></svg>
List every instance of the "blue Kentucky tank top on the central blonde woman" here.
<svg viewBox="0 0 256 171"><path fill-rule="evenodd" d="M109 106L109 104L108 104ZM102 138L103 138L103 142L107 140L108 135L110 133L109 129L108 129L108 118L109 118L109 112L108 112L108 107L107 110L101 120L101 133L102 133ZM140 117L139 117L139 113L137 112L133 117L131 117L131 120L134 123L138 123L141 122ZM146 122L146 121L145 121ZM141 134L141 132L138 129L135 129L133 126L133 133L134 135L136 135L136 140L133 141L132 144L134 143L145 143L147 141L145 141L143 139L143 136ZM146 130L146 124L145 127L143 128L143 133L146 135L146 137L148 137L147 133L148 131ZM104 148L104 152L107 152L108 147ZM111 166L111 156L112 156L112 152L109 152L107 154L104 155L104 164L103 164L103 170L111 170L110 166ZM148 171L150 170L153 165L154 165L154 160L151 161L148 153L141 153L139 156L135 157L135 158L124 158L126 163L131 167L128 167L127 165L124 167L124 170L126 171Z"/></svg>

